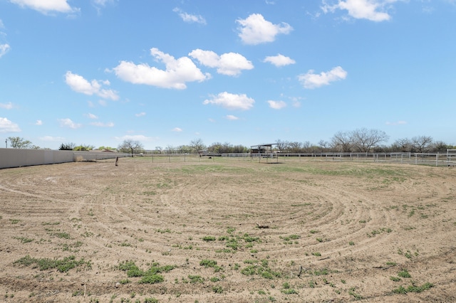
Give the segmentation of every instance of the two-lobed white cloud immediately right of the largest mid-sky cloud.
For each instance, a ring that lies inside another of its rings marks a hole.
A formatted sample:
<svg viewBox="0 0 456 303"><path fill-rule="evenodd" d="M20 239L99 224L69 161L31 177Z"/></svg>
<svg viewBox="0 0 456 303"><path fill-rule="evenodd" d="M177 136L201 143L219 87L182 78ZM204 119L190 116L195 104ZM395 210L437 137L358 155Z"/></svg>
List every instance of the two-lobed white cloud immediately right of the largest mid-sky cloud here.
<svg viewBox="0 0 456 303"><path fill-rule="evenodd" d="M242 70L252 70L254 65L239 53L224 53L217 55L212 50L192 50L190 57L198 60L202 65L209 68L217 68L217 73L222 75L236 76L242 73Z"/></svg>

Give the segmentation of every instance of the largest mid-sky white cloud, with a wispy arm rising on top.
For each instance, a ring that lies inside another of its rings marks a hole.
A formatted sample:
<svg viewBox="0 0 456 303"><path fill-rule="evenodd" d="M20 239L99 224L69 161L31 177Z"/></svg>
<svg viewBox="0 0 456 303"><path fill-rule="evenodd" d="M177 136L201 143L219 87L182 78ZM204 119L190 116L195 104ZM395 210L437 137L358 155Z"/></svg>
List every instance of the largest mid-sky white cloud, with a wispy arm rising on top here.
<svg viewBox="0 0 456 303"><path fill-rule="evenodd" d="M158 48L151 48L150 54L157 61L165 63L166 70L160 70L145 63L136 65L133 62L121 61L118 66L113 68L115 75L133 84L153 85L177 90L187 88L185 85L187 82L202 82L210 78L209 74L203 75L188 57L176 60L172 55L162 53Z"/></svg>

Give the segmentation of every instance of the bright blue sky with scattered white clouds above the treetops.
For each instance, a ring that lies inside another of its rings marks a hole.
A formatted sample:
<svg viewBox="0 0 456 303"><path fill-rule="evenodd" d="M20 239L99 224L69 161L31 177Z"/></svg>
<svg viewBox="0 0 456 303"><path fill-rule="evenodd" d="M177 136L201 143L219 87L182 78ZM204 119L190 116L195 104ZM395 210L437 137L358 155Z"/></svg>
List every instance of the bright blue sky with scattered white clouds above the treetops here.
<svg viewBox="0 0 456 303"><path fill-rule="evenodd" d="M456 0L0 0L0 137L456 145L455 33Z"/></svg>

